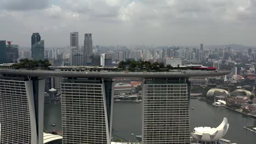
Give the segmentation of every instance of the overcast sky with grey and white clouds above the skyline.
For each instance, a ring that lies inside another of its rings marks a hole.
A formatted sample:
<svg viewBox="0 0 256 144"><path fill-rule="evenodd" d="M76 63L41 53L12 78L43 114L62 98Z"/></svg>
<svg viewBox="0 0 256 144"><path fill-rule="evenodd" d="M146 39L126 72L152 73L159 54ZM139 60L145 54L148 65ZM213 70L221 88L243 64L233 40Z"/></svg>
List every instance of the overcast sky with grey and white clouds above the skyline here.
<svg viewBox="0 0 256 144"><path fill-rule="evenodd" d="M0 0L0 39L30 46L69 45L69 33L94 45L256 46L256 0Z"/></svg>

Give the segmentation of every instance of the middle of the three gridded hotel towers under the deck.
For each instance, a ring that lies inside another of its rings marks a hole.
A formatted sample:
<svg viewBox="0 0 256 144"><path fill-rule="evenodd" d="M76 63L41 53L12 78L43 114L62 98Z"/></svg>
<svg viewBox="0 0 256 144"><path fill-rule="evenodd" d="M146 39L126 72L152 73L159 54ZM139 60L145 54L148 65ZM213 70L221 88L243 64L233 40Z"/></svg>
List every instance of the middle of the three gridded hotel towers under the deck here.
<svg viewBox="0 0 256 144"><path fill-rule="evenodd" d="M63 144L110 144L113 83L102 79L63 79Z"/></svg>

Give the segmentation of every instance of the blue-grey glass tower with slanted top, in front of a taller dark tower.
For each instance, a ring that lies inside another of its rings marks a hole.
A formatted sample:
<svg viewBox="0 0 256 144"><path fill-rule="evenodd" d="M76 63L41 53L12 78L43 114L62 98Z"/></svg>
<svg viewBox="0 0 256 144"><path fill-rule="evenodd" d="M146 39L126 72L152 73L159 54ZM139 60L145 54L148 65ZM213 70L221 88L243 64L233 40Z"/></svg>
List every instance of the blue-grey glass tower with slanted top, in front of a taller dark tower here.
<svg viewBox="0 0 256 144"><path fill-rule="evenodd" d="M31 57L34 61L44 60L44 40L32 45Z"/></svg>

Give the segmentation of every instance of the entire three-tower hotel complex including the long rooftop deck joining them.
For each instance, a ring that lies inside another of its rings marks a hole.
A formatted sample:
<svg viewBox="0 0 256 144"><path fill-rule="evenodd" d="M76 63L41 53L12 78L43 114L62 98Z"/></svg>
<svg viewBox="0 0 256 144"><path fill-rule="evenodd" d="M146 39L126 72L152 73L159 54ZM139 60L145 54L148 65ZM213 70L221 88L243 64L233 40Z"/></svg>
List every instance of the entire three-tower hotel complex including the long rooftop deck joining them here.
<svg viewBox="0 0 256 144"><path fill-rule="evenodd" d="M63 144L110 144L113 79L143 80L142 143L190 143L190 77L229 71L112 71L94 67L50 70L0 68L0 144L43 144L44 79L61 77Z"/></svg>

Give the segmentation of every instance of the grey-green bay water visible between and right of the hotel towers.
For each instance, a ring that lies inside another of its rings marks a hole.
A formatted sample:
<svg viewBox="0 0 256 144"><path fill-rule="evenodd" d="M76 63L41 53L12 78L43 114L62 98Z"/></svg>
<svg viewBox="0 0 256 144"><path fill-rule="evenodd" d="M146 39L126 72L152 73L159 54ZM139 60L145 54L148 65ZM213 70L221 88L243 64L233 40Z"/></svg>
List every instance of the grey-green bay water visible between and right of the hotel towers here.
<svg viewBox="0 0 256 144"><path fill-rule="evenodd" d="M191 109L194 107L194 110ZM45 128L49 131L61 130L61 105L45 104L44 111ZM244 129L246 125L256 124L256 118L241 113L219 109L198 99L190 100L190 131L194 127L217 127L223 120L228 118L230 127L225 139L238 144L255 144L256 134ZM56 124L52 127L51 124ZM136 141L136 135L141 135L142 124L142 103L127 101L115 101L113 112L113 136L124 140ZM132 135L133 134L133 135Z"/></svg>

